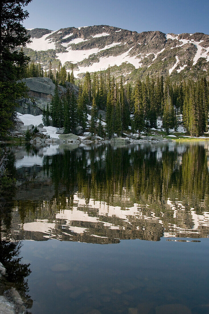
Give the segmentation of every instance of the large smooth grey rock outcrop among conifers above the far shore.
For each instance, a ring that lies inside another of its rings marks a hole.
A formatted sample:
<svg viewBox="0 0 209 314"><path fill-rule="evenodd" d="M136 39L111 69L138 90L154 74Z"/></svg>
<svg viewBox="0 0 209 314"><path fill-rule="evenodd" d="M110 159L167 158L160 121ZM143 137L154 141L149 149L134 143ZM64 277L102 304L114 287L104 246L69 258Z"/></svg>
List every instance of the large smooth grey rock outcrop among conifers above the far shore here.
<svg viewBox="0 0 209 314"><path fill-rule="evenodd" d="M42 114L44 106L45 108L47 104L50 106L55 84L50 78L24 78L22 81L28 87L28 97L18 101L16 111L34 116ZM66 87L58 85L58 89L60 98L66 94L67 89L70 90L70 94L78 96L78 86L69 82L66 82Z"/></svg>

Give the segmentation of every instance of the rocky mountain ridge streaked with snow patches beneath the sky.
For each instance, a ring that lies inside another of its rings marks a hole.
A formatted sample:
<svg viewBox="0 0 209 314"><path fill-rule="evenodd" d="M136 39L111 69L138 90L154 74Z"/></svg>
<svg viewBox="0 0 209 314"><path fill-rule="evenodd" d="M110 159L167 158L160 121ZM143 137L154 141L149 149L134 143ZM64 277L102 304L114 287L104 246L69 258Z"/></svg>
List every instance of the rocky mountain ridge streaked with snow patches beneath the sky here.
<svg viewBox="0 0 209 314"><path fill-rule="evenodd" d="M137 76L197 78L209 75L209 35L164 34L160 31L124 30L108 25L68 27L52 31L28 30L32 42L24 48L31 60L52 69L60 61L67 70L74 65L74 75L82 78L86 71L106 70L123 75L126 82Z"/></svg>

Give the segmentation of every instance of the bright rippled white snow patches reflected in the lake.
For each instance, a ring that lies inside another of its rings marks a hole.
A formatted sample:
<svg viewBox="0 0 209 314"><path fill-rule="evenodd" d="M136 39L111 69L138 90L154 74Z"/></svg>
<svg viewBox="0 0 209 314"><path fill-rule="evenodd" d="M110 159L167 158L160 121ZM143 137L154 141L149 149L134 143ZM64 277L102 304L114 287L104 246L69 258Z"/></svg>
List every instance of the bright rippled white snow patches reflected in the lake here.
<svg viewBox="0 0 209 314"><path fill-rule="evenodd" d="M124 197L124 199L126 199ZM129 201L130 199L127 198ZM66 199L68 202L68 200ZM132 207L129 208L121 208L120 206L108 206L106 202L99 202L95 201L94 199L89 200L88 207L86 206L86 200L85 198L81 198L78 196L78 194L74 195L74 204L76 203L76 206L73 206L70 209L65 209L64 211L61 211L56 214L56 219L53 221L53 223L48 222L47 219L39 219L36 220L35 222L30 222L30 223L25 223L23 226L23 229L25 231L36 231L36 232L42 232L44 233L45 238L57 238L59 239L61 237L61 234L57 235L57 232L60 232L59 228L57 229L57 226L60 226L60 222L62 221L62 234L69 236L72 238L72 234L69 234L66 231L70 231L71 233L75 234L83 234L84 232L90 232L90 229L88 227L82 227L79 226L78 222L88 222L88 223L93 223L93 224L100 224L101 225L101 230L105 232L104 228L107 228L109 230L126 230L126 227L120 225L120 220L121 222L125 222L126 224L128 223L130 226L132 226L132 220L134 219L134 222L141 223L142 220L144 221L153 221L155 223L158 223L163 226L166 222L162 220L165 218L164 215L166 215L163 212L160 212L160 217L156 217L155 212L153 209L151 210L149 208L149 205L147 204L145 207L141 207L141 205L134 203ZM174 203L168 198L167 204L169 205L170 209L173 210L173 218L176 219L177 221L179 220L178 215L180 212L185 212L185 206L182 204L181 201L178 199L175 199ZM43 207L47 207L47 203L43 204ZM89 216L88 211L89 209L96 209L97 210L97 215L96 217ZM147 208L147 213L150 213L149 215L145 215L144 211L142 209ZM177 223L170 223L168 222L168 227L167 229L164 228L163 236L164 237L175 237L176 234L184 234L188 236L190 234L200 234L200 230L198 229L200 226L209 226L209 213L204 212L202 215L198 215L195 213L194 208L191 208L190 210L190 215L191 215L191 220L194 223L193 228L191 229L185 229L178 225ZM105 221L105 217L112 217L112 218L117 218L117 223L119 222L119 225L115 225L111 223L110 221ZM131 221L130 221L131 218ZM179 221L181 223L182 221ZM76 226L75 224L78 224ZM103 227L102 227L103 226ZM132 226L133 227L133 226ZM164 226L163 226L164 227ZM141 230L145 231L146 230L146 225L140 225L135 227L136 230ZM170 230L170 231L169 231ZM108 238L107 236L99 236L94 233L89 234L89 236L97 237L97 238Z"/></svg>

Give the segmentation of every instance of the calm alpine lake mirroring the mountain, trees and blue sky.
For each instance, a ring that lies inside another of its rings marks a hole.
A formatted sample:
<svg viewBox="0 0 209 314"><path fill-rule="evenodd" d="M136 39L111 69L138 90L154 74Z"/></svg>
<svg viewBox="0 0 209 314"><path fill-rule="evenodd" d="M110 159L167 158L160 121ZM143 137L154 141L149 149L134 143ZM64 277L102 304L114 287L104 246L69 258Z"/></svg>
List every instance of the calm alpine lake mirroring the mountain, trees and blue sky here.
<svg viewBox="0 0 209 314"><path fill-rule="evenodd" d="M209 141L5 149L28 311L209 313Z"/></svg>

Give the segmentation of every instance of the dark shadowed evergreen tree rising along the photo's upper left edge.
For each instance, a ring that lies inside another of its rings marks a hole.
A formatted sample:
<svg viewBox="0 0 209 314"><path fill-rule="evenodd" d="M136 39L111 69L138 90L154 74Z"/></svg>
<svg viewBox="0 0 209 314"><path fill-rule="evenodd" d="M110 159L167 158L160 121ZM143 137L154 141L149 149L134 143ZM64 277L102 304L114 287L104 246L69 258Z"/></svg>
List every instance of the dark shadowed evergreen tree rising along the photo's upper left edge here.
<svg viewBox="0 0 209 314"><path fill-rule="evenodd" d="M27 31L21 24L28 17L24 11L30 0L2 0L0 9L0 138L17 122L15 101L25 94L25 85L17 82L24 76L29 58L18 46L29 42Z"/></svg>

